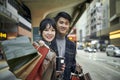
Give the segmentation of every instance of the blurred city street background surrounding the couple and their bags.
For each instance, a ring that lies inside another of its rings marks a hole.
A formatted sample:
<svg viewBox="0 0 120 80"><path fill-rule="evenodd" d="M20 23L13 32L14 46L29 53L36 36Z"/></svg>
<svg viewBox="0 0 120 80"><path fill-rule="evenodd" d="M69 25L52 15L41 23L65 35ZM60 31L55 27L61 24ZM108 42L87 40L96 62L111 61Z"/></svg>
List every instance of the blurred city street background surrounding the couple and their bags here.
<svg viewBox="0 0 120 80"><path fill-rule="evenodd" d="M6 68L3 41L20 36L38 41L41 20L64 11L72 17L67 37L77 44L84 72L93 80L120 80L119 7L120 0L0 0L0 72Z"/></svg>

